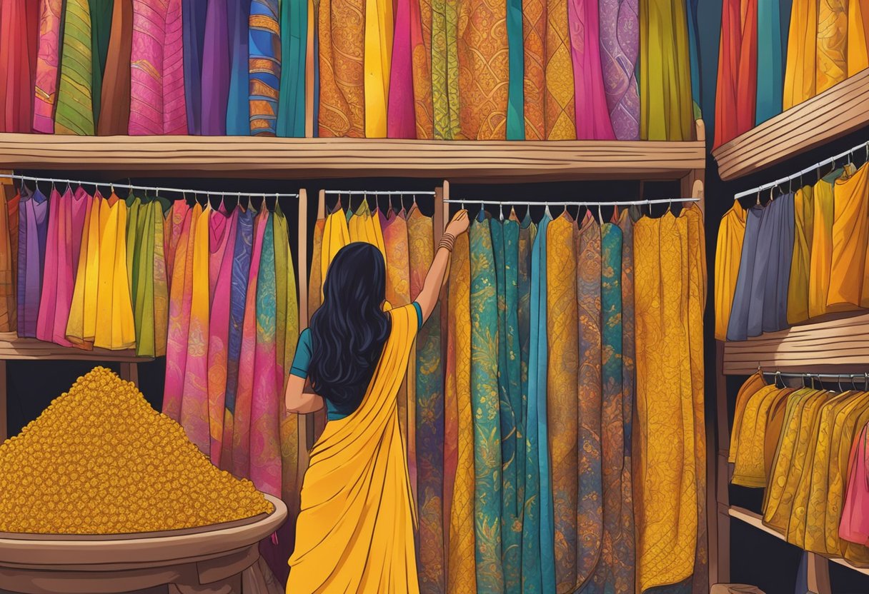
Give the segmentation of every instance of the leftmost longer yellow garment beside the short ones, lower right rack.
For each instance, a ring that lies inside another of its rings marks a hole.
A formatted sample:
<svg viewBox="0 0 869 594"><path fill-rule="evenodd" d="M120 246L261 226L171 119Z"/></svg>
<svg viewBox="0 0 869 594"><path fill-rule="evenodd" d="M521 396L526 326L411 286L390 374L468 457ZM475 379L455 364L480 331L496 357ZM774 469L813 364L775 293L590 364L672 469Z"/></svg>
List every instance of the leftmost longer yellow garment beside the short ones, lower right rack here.
<svg viewBox="0 0 869 594"><path fill-rule="evenodd" d="M799 394L799 396L798 396ZM799 481L802 478L809 452L814 421L820 407L831 396L822 390L797 390L791 394L793 413L788 412L782 428L779 452L768 481L764 502L764 524L788 538L794 502L799 498ZM790 402L788 402L790 404Z"/></svg>

